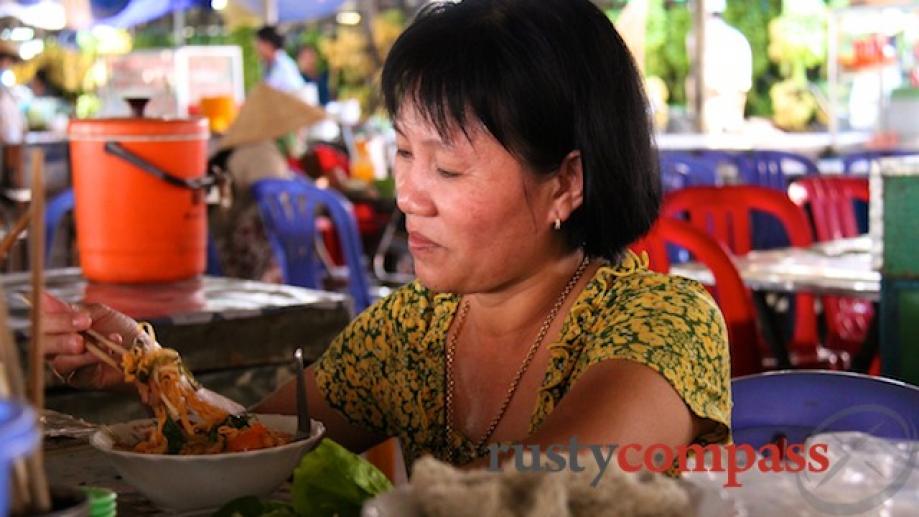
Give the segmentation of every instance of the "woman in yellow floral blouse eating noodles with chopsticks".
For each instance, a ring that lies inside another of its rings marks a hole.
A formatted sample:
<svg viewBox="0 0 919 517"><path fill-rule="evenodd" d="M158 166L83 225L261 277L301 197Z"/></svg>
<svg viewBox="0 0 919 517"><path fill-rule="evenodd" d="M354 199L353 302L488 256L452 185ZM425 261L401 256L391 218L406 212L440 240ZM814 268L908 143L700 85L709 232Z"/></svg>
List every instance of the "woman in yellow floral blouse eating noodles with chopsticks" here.
<svg viewBox="0 0 919 517"><path fill-rule="evenodd" d="M698 283L628 245L660 185L639 73L589 0L426 6L382 77L416 280L307 368L313 418L353 451L481 465L488 445L724 442L727 333ZM102 306L44 298L48 360L121 382L78 331L130 342ZM254 408L293 413L291 382Z"/></svg>

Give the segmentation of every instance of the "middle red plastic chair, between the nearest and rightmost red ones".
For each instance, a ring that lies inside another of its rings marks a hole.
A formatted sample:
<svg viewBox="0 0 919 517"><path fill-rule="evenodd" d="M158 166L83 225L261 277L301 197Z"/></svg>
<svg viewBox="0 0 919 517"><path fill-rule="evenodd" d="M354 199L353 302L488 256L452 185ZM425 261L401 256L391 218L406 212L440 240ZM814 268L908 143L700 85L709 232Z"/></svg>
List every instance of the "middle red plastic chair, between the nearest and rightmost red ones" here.
<svg viewBox="0 0 919 517"><path fill-rule="evenodd" d="M662 214L687 218L736 255L753 249L751 219L755 213L769 214L781 223L793 247L813 244L804 211L781 191L757 186L689 187L667 194ZM842 367L844 358L827 356L819 346L814 297L795 296L794 331L787 345L796 367Z"/></svg>

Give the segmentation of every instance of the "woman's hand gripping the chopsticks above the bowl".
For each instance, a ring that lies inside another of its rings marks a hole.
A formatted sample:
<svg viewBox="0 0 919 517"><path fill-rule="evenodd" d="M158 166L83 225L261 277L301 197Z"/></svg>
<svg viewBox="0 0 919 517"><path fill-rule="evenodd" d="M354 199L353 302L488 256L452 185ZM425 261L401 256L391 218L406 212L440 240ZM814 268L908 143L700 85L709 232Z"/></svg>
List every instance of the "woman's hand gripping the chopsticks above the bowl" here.
<svg viewBox="0 0 919 517"><path fill-rule="evenodd" d="M120 371L86 350L79 332L92 328L116 343L130 346L143 334L136 321L105 305L70 305L48 293L41 295L41 310L45 358L67 384L86 389L107 389L124 384Z"/></svg>

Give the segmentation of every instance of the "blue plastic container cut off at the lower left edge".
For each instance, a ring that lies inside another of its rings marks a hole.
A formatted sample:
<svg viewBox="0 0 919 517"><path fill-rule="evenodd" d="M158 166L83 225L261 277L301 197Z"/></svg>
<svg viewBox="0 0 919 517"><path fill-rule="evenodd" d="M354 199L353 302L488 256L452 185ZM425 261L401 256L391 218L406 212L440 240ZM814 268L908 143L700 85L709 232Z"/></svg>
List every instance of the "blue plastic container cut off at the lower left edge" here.
<svg viewBox="0 0 919 517"><path fill-rule="evenodd" d="M13 461L27 454L37 444L35 413L22 404L0 400L0 515L9 513Z"/></svg>

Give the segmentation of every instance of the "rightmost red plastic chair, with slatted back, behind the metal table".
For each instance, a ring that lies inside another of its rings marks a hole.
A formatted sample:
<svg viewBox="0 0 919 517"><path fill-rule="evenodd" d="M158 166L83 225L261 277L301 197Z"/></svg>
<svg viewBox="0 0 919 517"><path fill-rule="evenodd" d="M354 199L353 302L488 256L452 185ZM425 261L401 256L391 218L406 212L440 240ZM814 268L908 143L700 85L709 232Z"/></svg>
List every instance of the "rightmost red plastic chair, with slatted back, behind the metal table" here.
<svg viewBox="0 0 919 517"><path fill-rule="evenodd" d="M802 209L810 209L818 241L855 237L859 231L853 203L868 202L868 180L852 177L801 179L788 187L788 197ZM867 300L841 296L824 296L822 300L827 325L826 347L854 355L865 342L874 318L874 306Z"/></svg>

